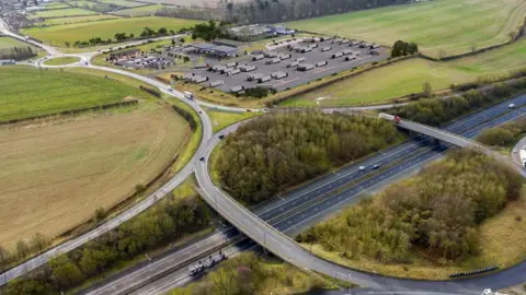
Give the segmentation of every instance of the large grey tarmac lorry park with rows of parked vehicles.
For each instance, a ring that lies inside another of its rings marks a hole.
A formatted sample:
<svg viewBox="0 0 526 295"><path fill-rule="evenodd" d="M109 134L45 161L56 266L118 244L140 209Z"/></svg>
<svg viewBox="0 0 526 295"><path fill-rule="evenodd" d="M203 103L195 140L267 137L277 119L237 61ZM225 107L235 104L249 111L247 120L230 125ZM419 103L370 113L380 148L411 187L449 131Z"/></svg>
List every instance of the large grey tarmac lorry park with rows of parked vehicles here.
<svg viewBox="0 0 526 295"><path fill-rule="evenodd" d="M258 54L253 52L250 56L241 57L237 60L238 66L228 68L228 70L226 68L228 61L210 66L211 70L210 67L204 70L193 69L192 72L197 78L190 78L188 82L196 83L196 81L203 80L201 76L207 76L209 80L206 82L206 87L215 87L225 93L240 95L243 94L244 90L256 87L258 84L264 84L261 86L272 87L281 92L330 74L351 70L362 64L381 61L388 57L388 51L384 49L379 49L380 55L373 56L370 55L373 49L350 48L351 44L357 42L348 40L346 43L347 40L341 38L340 44L331 44L331 38L315 37L307 43L301 40L297 44L285 44L282 48L259 51ZM344 44L342 45L342 43ZM319 45L318 49L312 50L310 48L313 44ZM323 49L327 47L330 50ZM308 48L308 51L305 51L306 48ZM322 49L327 51L322 51ZM336 54L338 58L332 58L334 54ZM350 58L345 59L345 57ZM290 60L283 62L282 58ZM309 64L304 66L307 60L309 60ZM238 74L237 71L227 73L232 71L232 69L240 70L247 74ZM305 73L307 71L308 74ZM279 72L279 75L274 74L277 72ZM288 79L284 79L285 76L288 76ZM222 81L222 83L216 81Z"/></svg>

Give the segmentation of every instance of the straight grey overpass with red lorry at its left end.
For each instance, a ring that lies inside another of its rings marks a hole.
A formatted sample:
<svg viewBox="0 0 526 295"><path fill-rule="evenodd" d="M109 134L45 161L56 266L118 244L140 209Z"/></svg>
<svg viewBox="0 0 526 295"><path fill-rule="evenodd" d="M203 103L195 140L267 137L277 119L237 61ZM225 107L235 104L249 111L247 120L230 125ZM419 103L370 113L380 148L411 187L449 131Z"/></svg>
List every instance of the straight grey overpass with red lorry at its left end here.
<svg viewBox="0 0 526 295"><path fill-rule="evenodd" d="M470 150L480 152L482 154L485 154L488 156L491 156L496 161L499 161L500 163L507 164L511 168L513 168L515 172L517 172L519 175L526 178L526 170L524 170L522 166L516 165L510 157L504 156L501 153L495 152L490 148L474 140L467 139L465 137L448 132L443 129L433 128L423 123L405 120L400 117L396 117L396 116L384 114L384 113L380 113L379 117L386 120L393 121L399 128L403 128L405 130L424 134L459 148L470 149Z"/></svg>

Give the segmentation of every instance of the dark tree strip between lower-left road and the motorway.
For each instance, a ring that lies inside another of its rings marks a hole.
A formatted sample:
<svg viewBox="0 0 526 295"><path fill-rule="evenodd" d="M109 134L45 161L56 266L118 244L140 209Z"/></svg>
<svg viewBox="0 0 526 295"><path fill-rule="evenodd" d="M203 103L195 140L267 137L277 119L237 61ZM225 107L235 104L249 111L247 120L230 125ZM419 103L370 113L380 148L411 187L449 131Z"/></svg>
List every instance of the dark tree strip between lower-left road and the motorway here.
<svg viewBox="0 0 526 295"><path fill-rule="evenodd" d="M198 196L182 199L172 194L118 228L54 258L39 271L10 282L3 294L58 294L119 262L207 225L208 219Z"/></svg>

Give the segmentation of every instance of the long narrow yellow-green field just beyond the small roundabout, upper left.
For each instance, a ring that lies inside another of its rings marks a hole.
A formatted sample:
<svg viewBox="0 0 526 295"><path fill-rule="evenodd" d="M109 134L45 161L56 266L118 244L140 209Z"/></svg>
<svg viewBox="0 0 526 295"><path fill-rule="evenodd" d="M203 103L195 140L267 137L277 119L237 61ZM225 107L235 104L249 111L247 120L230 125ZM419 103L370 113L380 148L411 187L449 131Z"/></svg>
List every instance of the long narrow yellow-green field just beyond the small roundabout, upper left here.
<svg viewBox="0 0 526 295"><path fill-rule="evenodd" d="M103 39L113 38L115 33L126 32L139 36L145 26L153 30L165 27L169 31L179 31L181 27L188 27L202 21L174 19L174 17L133 17L117 19L101 22L88 22L67 25L55 25L48 27L23 28L22 34L30 35L44 43L64 46L65 42L73 44L76 40L88 40L93 37Z"/></svg>

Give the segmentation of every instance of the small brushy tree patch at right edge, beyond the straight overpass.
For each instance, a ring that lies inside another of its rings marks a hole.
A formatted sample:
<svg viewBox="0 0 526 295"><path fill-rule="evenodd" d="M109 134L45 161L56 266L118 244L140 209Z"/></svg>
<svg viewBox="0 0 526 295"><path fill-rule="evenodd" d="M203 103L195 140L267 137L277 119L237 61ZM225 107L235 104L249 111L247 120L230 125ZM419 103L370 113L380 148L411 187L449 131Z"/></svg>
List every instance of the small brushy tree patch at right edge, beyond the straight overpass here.
<svg viewBox="0 0 526 295"><path fill-rule="evenodd" d="M508 146L521 140L524 133L526 133L526 118L522 117L500 127L484 129L477 140L485 145Z"/></svg>

